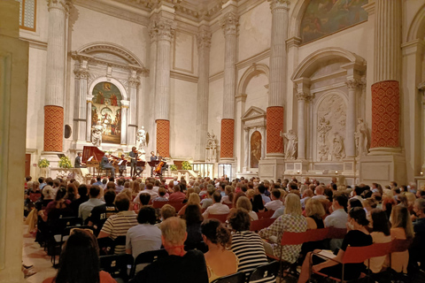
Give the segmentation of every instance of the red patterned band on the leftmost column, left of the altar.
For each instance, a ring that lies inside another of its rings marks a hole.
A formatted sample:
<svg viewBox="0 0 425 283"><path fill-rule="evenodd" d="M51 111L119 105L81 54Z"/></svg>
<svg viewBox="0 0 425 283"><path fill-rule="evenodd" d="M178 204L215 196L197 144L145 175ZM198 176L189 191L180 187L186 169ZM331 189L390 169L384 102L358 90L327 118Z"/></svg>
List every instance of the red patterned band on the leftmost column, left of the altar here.
<svg viewBox="0 0 425 283"><path fill-rule="evenodd" d="M62 151L64 109L60 106L44 106L44 151Z"/></svg>

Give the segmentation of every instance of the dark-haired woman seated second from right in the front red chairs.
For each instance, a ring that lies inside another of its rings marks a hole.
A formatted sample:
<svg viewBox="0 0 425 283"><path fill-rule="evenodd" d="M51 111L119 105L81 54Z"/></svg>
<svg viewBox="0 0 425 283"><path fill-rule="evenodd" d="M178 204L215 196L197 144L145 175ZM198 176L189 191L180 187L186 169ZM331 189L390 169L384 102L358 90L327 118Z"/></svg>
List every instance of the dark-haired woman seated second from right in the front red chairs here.
<svg viewBox="0 0 425 283"><path fill-rule="evenodd" d="M374 243L383 243L391 241L390 235L390 221L388 221L387 214L383 210L374 209L371 211L372 218L372 241ZM385 258L387 256L376 256L369 260L369 269L371 272L379 273L383 269Z"/></svg>

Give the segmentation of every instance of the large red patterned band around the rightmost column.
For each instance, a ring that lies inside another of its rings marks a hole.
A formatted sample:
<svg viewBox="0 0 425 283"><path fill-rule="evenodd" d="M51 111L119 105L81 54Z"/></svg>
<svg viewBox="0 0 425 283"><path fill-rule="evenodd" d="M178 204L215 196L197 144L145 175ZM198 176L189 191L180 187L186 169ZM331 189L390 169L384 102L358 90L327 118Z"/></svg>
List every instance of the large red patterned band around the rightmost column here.
<svg viewBox="0 0 425 283"><path fill-rule="evenodd" d="M397 80L372 85L371 148L398 148L400 90Z"/></svg>

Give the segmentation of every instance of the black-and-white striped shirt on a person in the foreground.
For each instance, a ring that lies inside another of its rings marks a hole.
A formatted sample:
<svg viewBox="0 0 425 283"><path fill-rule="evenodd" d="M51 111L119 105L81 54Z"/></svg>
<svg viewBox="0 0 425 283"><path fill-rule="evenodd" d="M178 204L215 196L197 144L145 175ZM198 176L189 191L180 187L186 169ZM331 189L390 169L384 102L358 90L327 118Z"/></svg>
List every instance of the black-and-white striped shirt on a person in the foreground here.
<svg viewBox="0 0 425 283"><path fill-rule="evenodd" d="M232 251L239 259L237 272L244 272L246 281L259 265L268 264L263 241L259 234L251 231L232 233ZM275 282L275 279L268 279L260 282Z"/></svg>

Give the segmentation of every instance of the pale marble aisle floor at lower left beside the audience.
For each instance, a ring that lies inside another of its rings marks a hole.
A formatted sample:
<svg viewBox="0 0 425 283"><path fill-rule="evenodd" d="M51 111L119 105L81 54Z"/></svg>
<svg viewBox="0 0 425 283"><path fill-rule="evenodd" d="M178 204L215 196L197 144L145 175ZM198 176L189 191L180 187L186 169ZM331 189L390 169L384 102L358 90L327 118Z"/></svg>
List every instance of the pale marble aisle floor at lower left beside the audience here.
<svg viewBox="0 0 425 283"><path fill-rule="evenodd" d="M32 268L35 275L26 279L29 283L42 283L44 279L55 276L56 270L50 263L50 256L40 245L35 242L35 236L27 232L27 226L24 225L24 243L22 248L22 262L25 265L34 265Z"/></svg>

